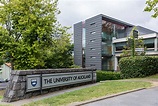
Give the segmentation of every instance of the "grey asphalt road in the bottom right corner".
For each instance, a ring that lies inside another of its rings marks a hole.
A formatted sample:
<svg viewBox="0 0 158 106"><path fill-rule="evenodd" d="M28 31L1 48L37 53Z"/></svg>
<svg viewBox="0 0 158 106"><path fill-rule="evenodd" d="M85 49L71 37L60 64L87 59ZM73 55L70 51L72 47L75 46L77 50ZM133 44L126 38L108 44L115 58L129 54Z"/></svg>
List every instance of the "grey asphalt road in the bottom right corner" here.
<svg viewBox="0 0 158 106"><path fill-rule="evenodd" d="M84 106L158 106L158 87L116 96Z"/></svg>

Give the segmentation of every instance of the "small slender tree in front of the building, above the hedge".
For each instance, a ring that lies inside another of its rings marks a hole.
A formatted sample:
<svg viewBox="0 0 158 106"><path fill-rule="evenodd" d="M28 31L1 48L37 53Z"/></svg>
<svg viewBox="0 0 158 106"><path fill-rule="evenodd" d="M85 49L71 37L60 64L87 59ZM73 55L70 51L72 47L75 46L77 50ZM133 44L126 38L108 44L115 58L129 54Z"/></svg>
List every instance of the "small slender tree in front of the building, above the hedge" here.
<svg viewBox="0 0 158 106"><path fill-rule="evenodd" d="M132 31L127 38L127 46L124 47L121 56L135 56L135 55L145 55L145 51L137 52L135 48L142 48L145 50L144 42L142 38L135 36L134 32L137 30L136 27L133 27ZM136 37L136 38L135 38Z"/></svg>

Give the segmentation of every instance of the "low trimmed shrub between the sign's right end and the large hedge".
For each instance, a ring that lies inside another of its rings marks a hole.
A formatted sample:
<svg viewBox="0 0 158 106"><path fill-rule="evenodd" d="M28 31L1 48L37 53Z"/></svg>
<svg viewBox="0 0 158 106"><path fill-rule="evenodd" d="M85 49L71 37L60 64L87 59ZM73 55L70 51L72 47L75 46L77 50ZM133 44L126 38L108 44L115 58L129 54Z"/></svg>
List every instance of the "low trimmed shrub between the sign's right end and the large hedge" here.
<svg viewBox="0 0 158 106"><path fill-rule="evenodd" d="M120 72L110 72L110 71L97 71L97 82L104 80L118 80L122 79Z"/></svg>

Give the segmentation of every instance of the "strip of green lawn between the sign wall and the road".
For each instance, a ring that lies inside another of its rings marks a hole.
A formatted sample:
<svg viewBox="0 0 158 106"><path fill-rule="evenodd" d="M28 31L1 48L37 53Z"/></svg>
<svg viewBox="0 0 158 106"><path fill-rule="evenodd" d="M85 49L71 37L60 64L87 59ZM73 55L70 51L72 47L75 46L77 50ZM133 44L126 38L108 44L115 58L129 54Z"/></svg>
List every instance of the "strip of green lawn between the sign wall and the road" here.
<svg viewBox="0 0 158 106"><path fill-rule="evenodd" d="M69 93L64 93L52 98L43 99L41 101L32 102L25 106L61 106L67 105L73 102L80 102L85 100L90 100L92 98L98 98L106 95L116 94L119 92L132 90L142 87L150 87L149 82L126 82L126 81L107 81L100 83L99 85L84 88L81 90L76 90Z"/></svg>

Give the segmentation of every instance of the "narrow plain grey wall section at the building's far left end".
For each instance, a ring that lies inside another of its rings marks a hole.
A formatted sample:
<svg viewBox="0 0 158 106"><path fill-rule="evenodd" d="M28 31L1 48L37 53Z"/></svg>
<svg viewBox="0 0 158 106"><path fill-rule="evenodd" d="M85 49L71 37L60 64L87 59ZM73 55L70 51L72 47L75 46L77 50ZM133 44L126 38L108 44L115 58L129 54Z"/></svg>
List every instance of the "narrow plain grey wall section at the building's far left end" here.
<svg viewBox="0 0 158 106"><path fill-rule="evenodd" d="M74 63L82 67L82 22L74 24Z"/></svg>

